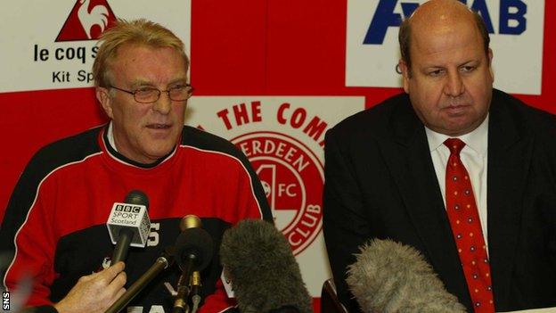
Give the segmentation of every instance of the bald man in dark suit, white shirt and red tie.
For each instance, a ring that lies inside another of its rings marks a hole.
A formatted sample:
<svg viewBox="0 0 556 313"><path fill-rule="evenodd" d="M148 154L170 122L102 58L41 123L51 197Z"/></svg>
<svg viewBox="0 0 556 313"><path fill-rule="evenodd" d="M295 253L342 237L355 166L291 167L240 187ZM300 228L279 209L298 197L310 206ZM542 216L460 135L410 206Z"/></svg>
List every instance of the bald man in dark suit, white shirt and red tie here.
<svg viewBox="0 0 556 313"><path fill-rule="evenodd" d="M326 136L340 301L358 311L347 266L390 238L421 251L469 311L556 306L555 117L493 89L487 30L458 1L422 4L399 40L405 93Z"/></svg>

